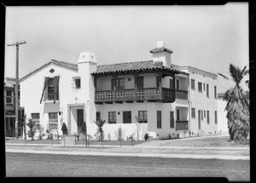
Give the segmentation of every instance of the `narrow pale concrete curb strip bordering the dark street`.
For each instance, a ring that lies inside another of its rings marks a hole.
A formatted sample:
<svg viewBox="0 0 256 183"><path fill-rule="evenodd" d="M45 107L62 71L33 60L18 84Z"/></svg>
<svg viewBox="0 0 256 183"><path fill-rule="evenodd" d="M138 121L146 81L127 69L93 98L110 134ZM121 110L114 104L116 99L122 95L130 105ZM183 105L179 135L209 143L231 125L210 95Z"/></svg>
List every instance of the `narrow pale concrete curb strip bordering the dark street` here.
<svg viewBox="0 0 256 183"><path fill-rule="evenodd" d="M183 154L150 154L150 153L122 153L122 152L60 152L60 151L37 151L7 149L6 152L37 153L37 154L62 154L80 156L118 156L118 157L166 157L166 158L195 158L195 159L231 159L249 160L248 156L226 156L226 155L183 155Z"/></svg>

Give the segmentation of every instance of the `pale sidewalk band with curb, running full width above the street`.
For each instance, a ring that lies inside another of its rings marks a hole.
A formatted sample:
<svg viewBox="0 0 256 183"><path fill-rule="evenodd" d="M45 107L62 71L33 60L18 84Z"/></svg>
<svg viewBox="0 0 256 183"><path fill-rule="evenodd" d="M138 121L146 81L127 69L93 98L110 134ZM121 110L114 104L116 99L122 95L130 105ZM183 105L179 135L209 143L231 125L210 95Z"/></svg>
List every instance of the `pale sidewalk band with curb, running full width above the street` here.
<svg viewBox="0 0 256 183"><path fill-rule="evenodd" d="M248 147L182 147L182 146L97 146L8 144L6 152L66 154L80 156L125 156L168 158L218 158L249 160Z"/></svg>

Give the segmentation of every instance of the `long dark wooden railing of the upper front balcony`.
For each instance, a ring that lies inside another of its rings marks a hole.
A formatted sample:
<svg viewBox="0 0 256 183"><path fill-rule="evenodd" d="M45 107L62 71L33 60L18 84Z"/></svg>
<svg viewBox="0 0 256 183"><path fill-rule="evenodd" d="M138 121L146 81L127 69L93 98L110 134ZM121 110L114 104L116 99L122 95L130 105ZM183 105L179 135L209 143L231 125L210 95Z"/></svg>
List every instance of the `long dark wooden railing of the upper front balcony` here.
<svg viewBox="0 0 256 183"><path fill-rule="evenodd" d="M173 102L175 91L173 89L118 89L96 91L96 102L113 102L125 100L161 100Z"/></svg>

